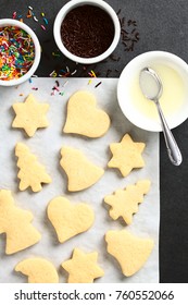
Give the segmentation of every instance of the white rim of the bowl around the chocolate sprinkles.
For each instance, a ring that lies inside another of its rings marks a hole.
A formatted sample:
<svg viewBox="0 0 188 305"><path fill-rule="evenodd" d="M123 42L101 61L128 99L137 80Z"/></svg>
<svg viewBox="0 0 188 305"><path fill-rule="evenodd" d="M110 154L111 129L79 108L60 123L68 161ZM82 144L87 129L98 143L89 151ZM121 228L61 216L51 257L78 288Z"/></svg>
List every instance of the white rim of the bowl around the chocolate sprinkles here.
<svg viewBox="0 0 188 305"><path fill-rule="evenodd" d="M98 7L102 10L104 10L112 19L113 24L114 24L114 38L113 41L111 44L111 46L109 47L109 49L103 52L102 54L98 56L98 57L92 57L92 58L82 58L82 57L77 57L73 53L71 53L63 45L62 38L61 38L61 25L62 22L65 17L65 15L72 11L74 8L79 7L79 5L85 5L85 4L90 4L90 5L95 5ZM103 0L71 0L70 2L67 2L58 13L55 21L54 21L54 26L53 26L53 35L54 35L54 40L57 42L57 46L59 47L60 51L67 57L68 59L75 61L75 62L79 62L83 64L91 64L91 63L96 63L96 62L100 62L102 60L104 60L105 58L108 58L116 48L118 40L120 40L120 35L121 35L121 26L120 26L120 21L118 17L115 13L115 11Z"/></svg>

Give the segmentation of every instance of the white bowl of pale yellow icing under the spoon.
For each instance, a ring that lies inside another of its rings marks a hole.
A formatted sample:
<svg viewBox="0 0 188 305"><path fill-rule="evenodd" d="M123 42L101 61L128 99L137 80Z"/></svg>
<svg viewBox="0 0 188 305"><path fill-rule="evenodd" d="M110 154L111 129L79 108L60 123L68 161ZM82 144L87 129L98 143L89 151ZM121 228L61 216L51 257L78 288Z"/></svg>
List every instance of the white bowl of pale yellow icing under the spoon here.
<svg viewBox="0 0 188 305"><path fill-rule="evenodd" d="M174 103L171 103L171 101L175 99L175 96L172 96L172 100L165 100L162 108L170 129L178 126L188 118L188 65L184 60L170 52L146 52L134 58L124 68L117 84L117 99L123 113L133 124L140 129L151 132L162 131L154 102L143 98L139 87L139 74L146 66L153 68L154 70L160 66L161 74L163 74L163 68L165 68L165 73L166 71L172 72L165 74L167 75L165 77L168 77L168 83L166 87L163 86L163 94L167 90L168 96L171 96L171 93L175 91L176 94L175 89L177 89L179 90L178 96L181 98L177 100L177 105L176 100L174 100ZM175 75L176 78L173 78L175 77L173 75ZM178 82L175 83L173 80L177 80ZM184 90L183 95L180 95L181 89ZM161 101L162 97L160 98ZM147 112L148 108L146 112L142 111L143 102L153 103L151 106L149 105L149 107L153 108L152 111L154 111L152 115L151 112Z"/></svg>

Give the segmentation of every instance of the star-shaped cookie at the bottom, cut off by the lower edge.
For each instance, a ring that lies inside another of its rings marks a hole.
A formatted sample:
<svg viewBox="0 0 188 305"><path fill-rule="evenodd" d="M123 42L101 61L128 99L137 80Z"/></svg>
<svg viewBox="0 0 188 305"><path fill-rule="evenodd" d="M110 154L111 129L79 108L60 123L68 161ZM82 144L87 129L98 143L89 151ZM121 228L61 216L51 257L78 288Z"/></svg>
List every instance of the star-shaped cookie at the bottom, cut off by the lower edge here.
<svg viewBox="0 0 188 305"><path fill-rule="evenodd" d="M104 274L103 270L97 265L98 253L85 254L75 248L72 259L64 261L61 266L70 273L68 283L92 283L96 278Z"/></svg>

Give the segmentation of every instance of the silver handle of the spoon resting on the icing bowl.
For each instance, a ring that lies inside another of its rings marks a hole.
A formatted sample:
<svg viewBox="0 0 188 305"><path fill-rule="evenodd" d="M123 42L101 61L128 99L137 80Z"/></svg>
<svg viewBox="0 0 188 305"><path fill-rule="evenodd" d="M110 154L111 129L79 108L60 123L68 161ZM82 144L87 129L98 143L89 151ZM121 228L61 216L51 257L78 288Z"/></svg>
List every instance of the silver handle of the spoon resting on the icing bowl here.
<svg viewBox="0 0 188 305"><path fill-rule="evenodd" d="M164 133L164 138L165 138L165 143L166 143L166 147L167 147L167 154L170 157L170 160L172 161L172 163L174 166L180 166L181 161L183 161L183 157L180 154L180 150L177 146L177 143L166 123L166 120L164 118L163 111L161 109L160 102L159 100L155 100L155 105L158 108L158 112L161 119L161 123L162 123L162 129L163 129L163 133Z"/></svg>

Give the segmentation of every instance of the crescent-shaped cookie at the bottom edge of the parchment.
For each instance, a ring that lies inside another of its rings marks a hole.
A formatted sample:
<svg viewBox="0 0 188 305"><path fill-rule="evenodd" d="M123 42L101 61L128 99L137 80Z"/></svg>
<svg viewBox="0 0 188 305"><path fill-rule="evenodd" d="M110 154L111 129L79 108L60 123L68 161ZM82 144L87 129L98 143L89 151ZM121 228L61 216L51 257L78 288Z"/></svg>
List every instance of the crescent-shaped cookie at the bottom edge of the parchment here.
<svg viewBox="0 0 188 305"><path fill-rule="evenodd" d="M28 283L59 283L59 274L53 264L41 257L20 261L15 271L28 277Z"/></svg>

